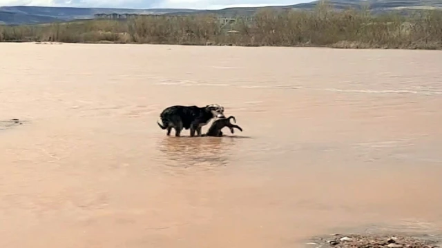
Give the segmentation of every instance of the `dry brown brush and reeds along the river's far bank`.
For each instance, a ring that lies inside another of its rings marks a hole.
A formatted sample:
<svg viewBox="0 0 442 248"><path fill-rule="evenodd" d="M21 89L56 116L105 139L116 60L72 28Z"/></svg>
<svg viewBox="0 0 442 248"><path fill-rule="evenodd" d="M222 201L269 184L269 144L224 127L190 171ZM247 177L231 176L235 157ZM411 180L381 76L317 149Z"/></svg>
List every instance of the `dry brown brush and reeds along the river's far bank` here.
<svg viewBox="0 0 442 248"><path fill-rule="evenodd" d="M441 49L442 12L374 16L365 10L336 12L323 2L314 11L262 10L251 21L238 18L224 27L211 16L0 26L0 41Z"/></svg>

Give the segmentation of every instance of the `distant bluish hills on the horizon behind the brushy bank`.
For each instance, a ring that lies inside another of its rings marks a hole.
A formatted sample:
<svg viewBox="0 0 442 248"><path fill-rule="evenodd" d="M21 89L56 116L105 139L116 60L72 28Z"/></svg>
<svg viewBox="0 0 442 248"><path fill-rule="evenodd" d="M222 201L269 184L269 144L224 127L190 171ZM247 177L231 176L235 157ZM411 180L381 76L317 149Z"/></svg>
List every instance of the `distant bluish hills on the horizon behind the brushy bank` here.
<svg viewBox="0 0 442 248"><path fill-rule="evenodd" d="M374 13L389 12L394 10L423 10L442 9L442 0L331 0L329 1L337 10L346 8L360 9L369 5ZM192 9L122 9L122 8L64 8L64 7L33 7L11 6L0 7L0 23L8 25L52 23L57 21L73 21L76 19L93 19L95 14L216 14L220 17L251 16L262 8L276 10L296 9L312 10L318 1L300 3L290 6L225 8L222 10L192 10Z"/></svg>

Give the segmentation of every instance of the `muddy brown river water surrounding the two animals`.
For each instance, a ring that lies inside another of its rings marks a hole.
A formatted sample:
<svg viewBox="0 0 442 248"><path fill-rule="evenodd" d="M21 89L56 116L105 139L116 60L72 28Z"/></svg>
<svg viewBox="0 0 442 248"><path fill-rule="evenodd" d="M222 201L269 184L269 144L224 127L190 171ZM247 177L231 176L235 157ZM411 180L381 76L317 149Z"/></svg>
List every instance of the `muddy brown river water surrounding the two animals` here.
<svg viewBox="0 0 442 248"><path fill-rule="evenodd" d="M289 248L340 228L442 228L439 51L0 54L0 121L23 121L0 128L0 247ZM156 124L169 105L211 103L244 132Z"/></svg>

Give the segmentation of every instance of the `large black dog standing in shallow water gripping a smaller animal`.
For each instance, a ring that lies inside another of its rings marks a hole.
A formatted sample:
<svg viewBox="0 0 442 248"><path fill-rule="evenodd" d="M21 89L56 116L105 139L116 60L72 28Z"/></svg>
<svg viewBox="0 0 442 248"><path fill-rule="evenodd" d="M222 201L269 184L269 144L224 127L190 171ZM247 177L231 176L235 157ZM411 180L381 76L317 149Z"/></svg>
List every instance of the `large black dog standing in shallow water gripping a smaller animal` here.
<svg viewBox="0 0 442 248"><path fill-rule="evenodd" d="M207 125L212 118L223 118L224 107L218 104L206 105L205 107L175 105L166 107L160 114L162 125L157 122L162 130L167 129L167 136L171 135L175 128L175 136L181 135L182 129L191 129L191 137L201 136L201 128Z"/></svg>

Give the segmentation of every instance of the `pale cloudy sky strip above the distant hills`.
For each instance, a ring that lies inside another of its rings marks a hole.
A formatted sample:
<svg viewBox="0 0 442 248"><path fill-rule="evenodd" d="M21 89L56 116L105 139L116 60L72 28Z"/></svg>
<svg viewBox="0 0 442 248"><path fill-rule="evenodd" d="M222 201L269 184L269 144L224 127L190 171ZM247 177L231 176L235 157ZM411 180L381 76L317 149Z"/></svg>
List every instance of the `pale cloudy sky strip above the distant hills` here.
<svg viewBox="0 0 442 248"><path fill-rule="evenodd" d="M0 0L0 6L219 9L237 6L278 6L309 1L311 0Z"/></svg>

